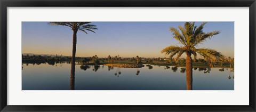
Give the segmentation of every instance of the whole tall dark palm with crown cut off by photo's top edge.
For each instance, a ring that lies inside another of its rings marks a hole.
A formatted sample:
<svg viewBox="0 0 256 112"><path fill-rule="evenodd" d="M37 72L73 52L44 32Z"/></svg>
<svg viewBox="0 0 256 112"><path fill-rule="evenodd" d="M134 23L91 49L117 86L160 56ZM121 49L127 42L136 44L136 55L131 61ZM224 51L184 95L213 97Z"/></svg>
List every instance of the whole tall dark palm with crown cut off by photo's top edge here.
<svg viewBox="0 0 256 112"><path fill-rule="evenodd" d="M75 61L76 61L76 34L77 31L87 31L95 33L93 30L98 29L97 26L90 24L91 22L49 22L49 25L68 26L73 30L73 49L71 58L71 73L70 73L70 90L75 90Z"/></svg>

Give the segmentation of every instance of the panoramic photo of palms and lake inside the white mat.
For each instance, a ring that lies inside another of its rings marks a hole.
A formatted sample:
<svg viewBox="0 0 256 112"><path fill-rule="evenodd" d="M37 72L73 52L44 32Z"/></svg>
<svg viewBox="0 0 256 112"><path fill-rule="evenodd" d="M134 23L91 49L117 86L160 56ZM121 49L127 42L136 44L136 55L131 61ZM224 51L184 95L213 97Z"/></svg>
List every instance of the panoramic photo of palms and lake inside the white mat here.
<svg viewBox="0 0 256 112"><path fill-rule="evenodd" d="M234 90L234 22L22 22L22 90Z"/></svg>

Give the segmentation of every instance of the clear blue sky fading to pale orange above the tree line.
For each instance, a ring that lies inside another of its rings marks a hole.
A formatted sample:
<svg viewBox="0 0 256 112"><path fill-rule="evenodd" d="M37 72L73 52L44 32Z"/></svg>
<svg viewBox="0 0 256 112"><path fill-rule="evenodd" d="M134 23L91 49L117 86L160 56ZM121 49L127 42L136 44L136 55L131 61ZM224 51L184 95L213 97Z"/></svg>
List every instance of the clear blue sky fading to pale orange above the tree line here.
<svg viewBox="0 0 256 112"><path fill-rule="evenodd" d="M22 22L22 53L62 54L71 56L73 30L67 26L50 26L48 22ZM185 22L92 22L95 33L77 33L76 57L164 58L161 50L178 45L170 27L178 28ZM195 22L196 26L202 22ZM209 48L234 58L234 22L207 22L203 31L218 30L220 34L198 44L196 48ZM182 55L185 58L185 54ZM175 57L174 57L175 58Z"/></svg>

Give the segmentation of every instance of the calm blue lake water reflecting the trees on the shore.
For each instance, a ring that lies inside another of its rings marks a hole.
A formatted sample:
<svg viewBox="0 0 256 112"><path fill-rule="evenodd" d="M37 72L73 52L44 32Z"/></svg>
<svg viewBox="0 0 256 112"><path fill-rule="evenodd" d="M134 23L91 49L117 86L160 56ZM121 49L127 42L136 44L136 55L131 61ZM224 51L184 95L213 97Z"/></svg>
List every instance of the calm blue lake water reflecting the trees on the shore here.
<svg viewBox="0 0 256 112"><path fill-rule="evenodd" d="M69 63L22 64L22 90L69 90ZM75 90L186 90L183 67L76 65ZM193 90L234 90L234 69L193 68Z"/></svg>

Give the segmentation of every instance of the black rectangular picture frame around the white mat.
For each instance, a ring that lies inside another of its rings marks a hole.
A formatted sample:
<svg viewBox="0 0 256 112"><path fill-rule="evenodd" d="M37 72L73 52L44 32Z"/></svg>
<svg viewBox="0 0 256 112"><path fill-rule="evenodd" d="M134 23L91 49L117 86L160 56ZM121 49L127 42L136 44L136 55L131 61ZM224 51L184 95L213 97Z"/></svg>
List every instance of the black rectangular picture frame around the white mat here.
<svg viewBox="0 0 256 112"><path fill-rule="evenodd" d="M255 111L255 0L0 0L1 111ZM7 103L7 7L250 7L249 106L9 106Z"/></svg>

